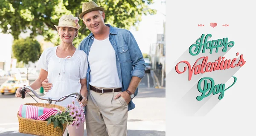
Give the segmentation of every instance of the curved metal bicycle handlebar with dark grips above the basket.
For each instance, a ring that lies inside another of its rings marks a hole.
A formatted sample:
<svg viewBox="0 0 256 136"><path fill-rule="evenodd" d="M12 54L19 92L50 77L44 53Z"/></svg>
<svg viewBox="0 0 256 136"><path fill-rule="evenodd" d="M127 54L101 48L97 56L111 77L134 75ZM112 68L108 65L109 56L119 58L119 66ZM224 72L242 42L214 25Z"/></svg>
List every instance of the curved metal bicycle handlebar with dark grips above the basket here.
<svg viewBox="0 0 256 136"><path fill-rule="evenodd" d="M38 93L35 92L35 90L33 90L31 87L26 86L26 85L24 87L22 87L22 89L20 90L21 98L25 98L26 89L29 89L32 93L34 93L37 98L39 98L41 100L47 100L50 104L52 103L52 101L63 101L68 96L71 96L71 95L77 95L79 101L82 101L82 99L83 99L82 95L80 93L77 93L77 92L72 92L72 93L68 94L67 96L65 96L64 98L61 98L61 99L52 99L50 97L41 97L41 96L38 95Z"/></svg>

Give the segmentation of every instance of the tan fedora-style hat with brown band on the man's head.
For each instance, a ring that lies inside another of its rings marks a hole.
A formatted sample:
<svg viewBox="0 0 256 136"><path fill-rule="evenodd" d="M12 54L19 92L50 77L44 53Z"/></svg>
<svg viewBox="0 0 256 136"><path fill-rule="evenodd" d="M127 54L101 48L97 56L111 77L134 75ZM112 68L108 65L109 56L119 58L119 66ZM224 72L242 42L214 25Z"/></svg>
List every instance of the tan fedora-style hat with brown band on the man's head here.
<svg viewBox="0 0 256 136"><path fill-rule="evenodd" d="M83 19L84 14L88 13L88 12L92 12L94 10L101 10L102 12L104 12L104 8L99 7L95 2L90 1L90 2L86 2L83 3L83 8L82 8L82 13L79 14L79 18Z"/></svg>

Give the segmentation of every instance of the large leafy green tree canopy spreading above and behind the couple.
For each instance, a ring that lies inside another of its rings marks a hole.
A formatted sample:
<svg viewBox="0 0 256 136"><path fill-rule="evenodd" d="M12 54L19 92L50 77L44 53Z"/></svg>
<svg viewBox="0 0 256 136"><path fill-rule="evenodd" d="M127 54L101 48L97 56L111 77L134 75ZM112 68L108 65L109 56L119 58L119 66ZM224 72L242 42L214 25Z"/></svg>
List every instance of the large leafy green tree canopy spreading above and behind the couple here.
<svg viewBox="0 0 256 136"><path fill-rule="evenodd" d="M0 29L3 33L11 33L15 39L21 32L30 30L30 36L43 35L46 41L55 45L59 44L59 38L54 25L58 25L58 19L63 14L72 14L76 17L81 13L82 3L88 0L0 0ZM91 1L91 0L89 0ZM112 26L129 29L138 23L143 14L155 14L148 5L153 0L93 0L105 9L105 23ZM79 36L74 39L74 45L78 46L90 31L80 20Z"/></svg>

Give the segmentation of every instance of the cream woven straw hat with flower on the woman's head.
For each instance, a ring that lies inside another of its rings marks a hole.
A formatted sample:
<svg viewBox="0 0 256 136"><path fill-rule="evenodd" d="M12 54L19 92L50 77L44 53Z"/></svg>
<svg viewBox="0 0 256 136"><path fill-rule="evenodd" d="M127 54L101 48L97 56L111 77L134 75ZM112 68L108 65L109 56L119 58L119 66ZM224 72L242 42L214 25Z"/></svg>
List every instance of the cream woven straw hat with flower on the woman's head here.
<svg viewBox="0 0 256 136"><path fill-rule="evenodd" d="M78 21L79 21L78 17L74 17L73 15L64 14L59 19L58 26L56 26L56 25L54 25L54 26L56 27L56 29L58 29L59 27L72 27L72 28L79 30L81 28L81 26L79 26Z"/></svg>

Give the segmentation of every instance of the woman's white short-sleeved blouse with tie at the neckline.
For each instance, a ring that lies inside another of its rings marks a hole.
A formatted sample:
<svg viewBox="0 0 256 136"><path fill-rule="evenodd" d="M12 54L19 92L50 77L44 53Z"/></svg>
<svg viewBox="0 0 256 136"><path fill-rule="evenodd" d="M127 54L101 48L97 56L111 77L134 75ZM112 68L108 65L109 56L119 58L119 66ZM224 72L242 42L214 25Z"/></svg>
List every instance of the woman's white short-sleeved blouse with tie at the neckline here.
<svg viewBox="0 0 256 136"><path fill-rule="evenodd" d="M56 55L58 46L49 47L44 50L38 60L38 66L48 72L49 83L52 83L52 89L44 97L59 99L72 92L80 93L80 79L86 78L88 67L87 54L84 51L76 49L73 56L59 58ZM73 95L76 97L76 95ZM79 106L79 102L74 97L68 97L64 101L57 102L57 105L67 107L72 101ZM54 104L55 101L52 101Z"/></svg>

